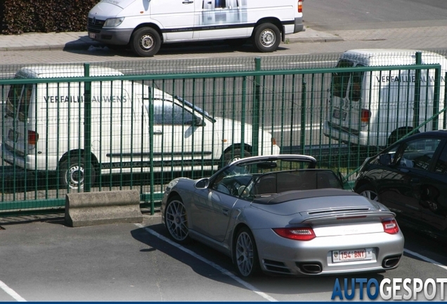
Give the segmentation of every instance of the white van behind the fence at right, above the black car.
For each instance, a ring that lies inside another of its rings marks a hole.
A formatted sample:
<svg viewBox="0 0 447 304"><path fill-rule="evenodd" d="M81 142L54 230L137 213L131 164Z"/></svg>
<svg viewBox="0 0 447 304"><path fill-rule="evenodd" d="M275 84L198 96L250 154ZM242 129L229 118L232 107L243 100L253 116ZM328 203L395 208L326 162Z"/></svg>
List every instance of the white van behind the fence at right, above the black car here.
<svg viewBox="0 0 447 304"><path fill-rule="evenodd" d="M414 65L416 50L355 49L342 54L337 68ZM440 105L442 109L447 58L422 51L422 64L441 65ZM416 120L415 70L338 72L332 74L328 100L326 137L352 144L383 148L413 131L434 114L434 70L421 71L420 106ZM415 132L441 129L443 115Z"/></svg>

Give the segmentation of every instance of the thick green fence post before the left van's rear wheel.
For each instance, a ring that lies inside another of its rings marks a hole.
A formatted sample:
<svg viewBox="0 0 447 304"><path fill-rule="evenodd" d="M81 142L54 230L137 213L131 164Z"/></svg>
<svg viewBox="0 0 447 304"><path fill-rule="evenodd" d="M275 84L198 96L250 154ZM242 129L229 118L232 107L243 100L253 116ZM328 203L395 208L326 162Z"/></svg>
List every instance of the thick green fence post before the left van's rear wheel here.
<svg viewBox="0 0 447 304"><path fill-rule="evenodd" d="M90 77L90 64L84 63L84 77ZM84 192L91 191L91 82L84 83Z"/></svg>

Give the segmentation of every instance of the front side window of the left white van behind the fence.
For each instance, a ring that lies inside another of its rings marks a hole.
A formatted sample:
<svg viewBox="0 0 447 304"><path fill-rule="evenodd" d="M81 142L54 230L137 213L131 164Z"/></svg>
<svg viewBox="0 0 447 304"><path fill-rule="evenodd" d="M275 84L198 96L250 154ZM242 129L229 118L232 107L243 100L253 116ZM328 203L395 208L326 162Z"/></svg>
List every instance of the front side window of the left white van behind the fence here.
<svg viewBox="0 0 447 304"><path fill-rule="evenodd" d="M192 122L193 114L171 101L154 101L155 125L184 125Z"/></svg>

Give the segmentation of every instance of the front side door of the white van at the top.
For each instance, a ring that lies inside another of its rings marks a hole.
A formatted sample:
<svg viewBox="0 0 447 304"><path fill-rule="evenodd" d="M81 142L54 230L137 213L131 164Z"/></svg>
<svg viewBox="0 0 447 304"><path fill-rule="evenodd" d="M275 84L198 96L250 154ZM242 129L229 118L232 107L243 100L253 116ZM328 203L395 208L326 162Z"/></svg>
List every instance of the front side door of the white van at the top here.
<svg viewBox="0 0 447 304"><path fill-rule="evenodd" d="M160 23L164 41L193 38L193 0L151 0L150 18Z"/></svg>

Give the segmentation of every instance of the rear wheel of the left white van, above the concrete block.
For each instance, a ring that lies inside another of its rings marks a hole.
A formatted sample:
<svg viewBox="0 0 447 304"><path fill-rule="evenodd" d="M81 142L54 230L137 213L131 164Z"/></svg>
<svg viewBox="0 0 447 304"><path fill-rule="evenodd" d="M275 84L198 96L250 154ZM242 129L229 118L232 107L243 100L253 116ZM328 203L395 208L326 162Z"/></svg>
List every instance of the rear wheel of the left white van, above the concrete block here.
<svg viewBox="0 0 447 304"><path fill-rule="evenodd" d="M91 184L95 183L96 172L91 166ZM59 180L65 188L83 189L85 176L84 158L72 157L64 160L59 166Z"/></svg>

